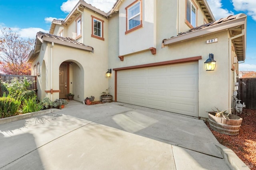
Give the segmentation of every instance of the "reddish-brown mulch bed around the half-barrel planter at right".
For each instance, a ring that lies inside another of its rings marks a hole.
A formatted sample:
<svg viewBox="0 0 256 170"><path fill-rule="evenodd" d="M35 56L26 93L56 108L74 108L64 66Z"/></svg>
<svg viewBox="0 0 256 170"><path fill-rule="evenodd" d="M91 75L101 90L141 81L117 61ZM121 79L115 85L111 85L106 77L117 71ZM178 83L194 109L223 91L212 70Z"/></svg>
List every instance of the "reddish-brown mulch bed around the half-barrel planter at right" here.
<svg viewBox="0 0 256 170"><path fill-rule="evenodd" d="M243 109L243 112L238 116L242 117L243 120L239 134L236 136L213 131L208 122L206 125L220 144L233 150L248 168L256 170L256 110Z"/></svg>

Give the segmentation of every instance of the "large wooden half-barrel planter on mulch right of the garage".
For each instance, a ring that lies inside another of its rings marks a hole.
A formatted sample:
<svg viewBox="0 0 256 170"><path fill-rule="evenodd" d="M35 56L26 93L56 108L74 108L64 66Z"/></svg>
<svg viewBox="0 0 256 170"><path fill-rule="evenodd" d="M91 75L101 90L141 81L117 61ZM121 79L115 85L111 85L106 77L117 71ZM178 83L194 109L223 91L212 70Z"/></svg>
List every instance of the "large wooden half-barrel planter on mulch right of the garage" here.
<svg viewBox="0 0 256 170"><path fill-rule="evenodd" d="M230 120L216 117L214 112L208 112L210 128L226 135L238 135L242 118L237 115L229 115Z"/></svg>

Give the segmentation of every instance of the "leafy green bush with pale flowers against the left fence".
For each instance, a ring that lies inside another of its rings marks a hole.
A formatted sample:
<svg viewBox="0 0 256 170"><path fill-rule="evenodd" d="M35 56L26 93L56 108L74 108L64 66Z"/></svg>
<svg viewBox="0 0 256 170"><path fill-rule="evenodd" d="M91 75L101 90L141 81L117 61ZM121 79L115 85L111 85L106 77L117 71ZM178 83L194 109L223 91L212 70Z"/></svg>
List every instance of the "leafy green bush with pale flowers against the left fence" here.
<svg viewBox="0 0 256 170"><path fill-rule="evenodd" d="M14 78L10 83L2 82L5 88L8 90L10 97L19 98L22 92L28 90L32 82L28 80L26 77L22 80L18 80L18 78Z"/></svg>

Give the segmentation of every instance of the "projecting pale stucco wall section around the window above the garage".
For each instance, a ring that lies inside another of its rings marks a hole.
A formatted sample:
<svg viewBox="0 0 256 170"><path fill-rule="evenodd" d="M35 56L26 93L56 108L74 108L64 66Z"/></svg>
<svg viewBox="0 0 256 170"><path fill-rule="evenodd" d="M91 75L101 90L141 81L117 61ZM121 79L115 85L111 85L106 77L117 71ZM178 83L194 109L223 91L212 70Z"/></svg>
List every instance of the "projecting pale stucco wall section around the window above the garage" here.
<svg viewBox="0 0 256 170"><path fill-rule="evenodd" d="M119 55L130 55L156 47L156 0L142 1L142 28L126 31L126 10L133 1L123 1L119 7Z"/></svg>

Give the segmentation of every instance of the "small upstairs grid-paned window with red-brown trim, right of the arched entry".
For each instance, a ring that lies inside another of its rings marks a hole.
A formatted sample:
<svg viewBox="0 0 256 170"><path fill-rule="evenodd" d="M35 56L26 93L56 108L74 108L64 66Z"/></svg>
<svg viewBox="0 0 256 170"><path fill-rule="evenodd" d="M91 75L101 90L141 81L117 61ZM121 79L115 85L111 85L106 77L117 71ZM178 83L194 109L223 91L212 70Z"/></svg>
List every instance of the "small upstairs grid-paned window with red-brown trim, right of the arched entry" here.
<svg viewBox="0 0 256 170"><path fill-rule="evenodd" d="M103 37L103 20L92 16L92 37L104 40Z"/></svg>

